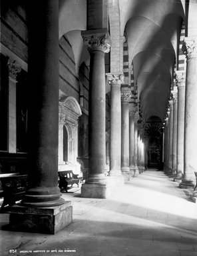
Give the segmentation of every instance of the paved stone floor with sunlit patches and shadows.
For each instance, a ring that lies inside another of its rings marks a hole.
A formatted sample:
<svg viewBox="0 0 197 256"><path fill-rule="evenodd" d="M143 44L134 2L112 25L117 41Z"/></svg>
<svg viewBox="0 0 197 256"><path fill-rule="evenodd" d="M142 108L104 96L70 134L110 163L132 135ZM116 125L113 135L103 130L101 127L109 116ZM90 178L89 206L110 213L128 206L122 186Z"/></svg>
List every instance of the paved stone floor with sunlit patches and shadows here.
<svg viewBox="0 0 197 256"><path fill-rule="evenodd" d="M56 235L3 230L0 255L196 256L197 204L162 171L148 170L108 199L80 197L73 187L63 198L73 204L73 223Z"/></svg>

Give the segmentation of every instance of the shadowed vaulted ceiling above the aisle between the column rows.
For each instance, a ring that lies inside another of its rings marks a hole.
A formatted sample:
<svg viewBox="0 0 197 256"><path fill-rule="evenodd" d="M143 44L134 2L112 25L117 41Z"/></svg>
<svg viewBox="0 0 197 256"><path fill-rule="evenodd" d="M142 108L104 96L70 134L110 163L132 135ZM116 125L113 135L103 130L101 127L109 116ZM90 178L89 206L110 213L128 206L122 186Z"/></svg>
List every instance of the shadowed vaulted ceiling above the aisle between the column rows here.
<svg viewBox="0 0 197 256"><path fill-rule="evenodd" d="M119 5L120 30L126 35L144 121L151 116L164 119L179 54L182 3L120 0Z"/></svg>

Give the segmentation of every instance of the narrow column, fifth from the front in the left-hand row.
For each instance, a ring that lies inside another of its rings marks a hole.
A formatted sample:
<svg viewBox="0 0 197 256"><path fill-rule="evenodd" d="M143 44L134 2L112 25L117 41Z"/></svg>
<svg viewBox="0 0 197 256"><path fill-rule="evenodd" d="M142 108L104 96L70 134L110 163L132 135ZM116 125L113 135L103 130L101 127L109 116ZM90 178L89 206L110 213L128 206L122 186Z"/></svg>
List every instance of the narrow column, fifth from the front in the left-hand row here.
<svg viewBox="0 0 197 256"><path fill-rule="evenodd" d="M134 165L134 115L136 109L130 109L129 112L129 167L131 177L135 177L135 165Z"/></svg>

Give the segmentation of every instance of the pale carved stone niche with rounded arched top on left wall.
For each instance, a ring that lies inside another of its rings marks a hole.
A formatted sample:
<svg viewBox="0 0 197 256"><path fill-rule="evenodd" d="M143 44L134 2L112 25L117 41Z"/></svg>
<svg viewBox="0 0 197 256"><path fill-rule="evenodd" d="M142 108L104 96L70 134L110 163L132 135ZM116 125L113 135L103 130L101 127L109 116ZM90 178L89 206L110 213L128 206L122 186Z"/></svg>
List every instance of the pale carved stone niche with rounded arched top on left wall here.
<svg viewBox="0 0 197 256"><path fill-rule="evenodd" d="M79 172L78 119L82 115L74 97L62 97L59 101L59 170Z"/></svg>

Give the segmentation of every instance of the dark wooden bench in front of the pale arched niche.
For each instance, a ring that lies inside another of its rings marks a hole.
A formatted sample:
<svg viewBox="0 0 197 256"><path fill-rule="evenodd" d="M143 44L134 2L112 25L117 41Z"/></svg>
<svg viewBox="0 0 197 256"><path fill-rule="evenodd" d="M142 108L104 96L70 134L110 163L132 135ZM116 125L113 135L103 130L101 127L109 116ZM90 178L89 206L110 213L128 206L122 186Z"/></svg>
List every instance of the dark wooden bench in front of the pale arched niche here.
<svg viewBox="0 0 197 256"><path fill-rule="evenodd" d="M68 185L73 186L73 184L77 184L79 187L80 178L77 174L74 174L72 170L68 171L59 171L59 188L61 192L68 192Z"/></svg>

